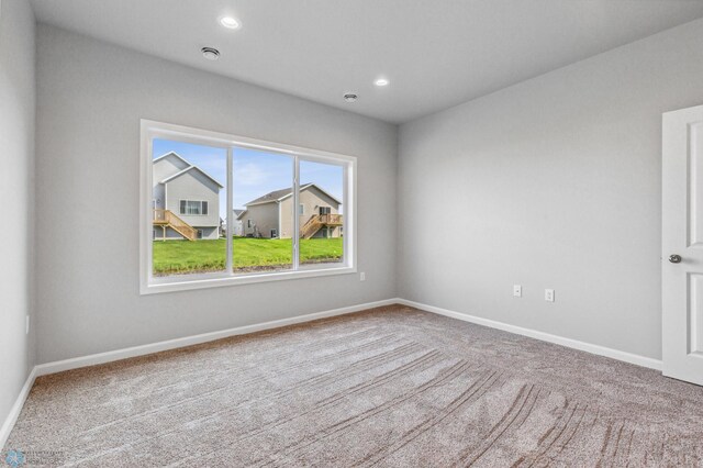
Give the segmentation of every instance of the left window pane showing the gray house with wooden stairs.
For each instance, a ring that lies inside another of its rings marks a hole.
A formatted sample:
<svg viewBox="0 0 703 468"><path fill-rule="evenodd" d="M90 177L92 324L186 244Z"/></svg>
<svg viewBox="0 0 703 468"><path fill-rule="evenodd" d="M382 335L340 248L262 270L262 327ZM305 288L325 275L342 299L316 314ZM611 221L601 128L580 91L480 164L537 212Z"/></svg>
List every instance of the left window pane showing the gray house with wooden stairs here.
<svg viewBox="0 0 703 468"><path fill-rule="evenodd" d="M158 138L152 149L154 276L224 271L226 149Z"/></svg>

